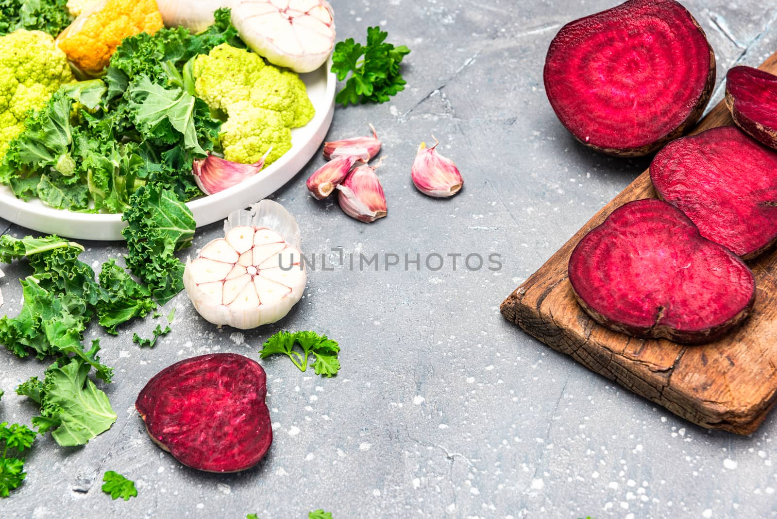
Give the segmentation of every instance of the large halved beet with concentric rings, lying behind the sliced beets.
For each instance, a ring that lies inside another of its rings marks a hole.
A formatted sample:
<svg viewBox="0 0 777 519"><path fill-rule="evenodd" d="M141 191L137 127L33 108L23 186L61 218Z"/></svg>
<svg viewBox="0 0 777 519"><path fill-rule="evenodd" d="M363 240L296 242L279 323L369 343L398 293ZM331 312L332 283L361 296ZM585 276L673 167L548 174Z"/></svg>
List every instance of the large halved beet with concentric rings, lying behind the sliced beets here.
<svg viewBox="0 0 777 519"><path fill-rule="evenodd" d="M715 54L674 0L630 0L568 23L545 58L545 91L578 141L608 155L646 155L702 114Z"/></svg>

